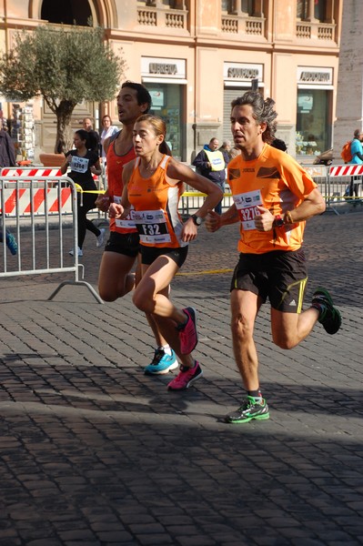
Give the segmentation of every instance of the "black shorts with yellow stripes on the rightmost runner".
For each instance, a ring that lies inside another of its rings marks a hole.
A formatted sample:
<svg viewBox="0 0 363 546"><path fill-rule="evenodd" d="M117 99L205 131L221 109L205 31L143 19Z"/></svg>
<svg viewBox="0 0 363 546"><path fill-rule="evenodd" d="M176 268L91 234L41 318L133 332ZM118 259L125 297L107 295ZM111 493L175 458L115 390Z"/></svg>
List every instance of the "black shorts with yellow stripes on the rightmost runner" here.
<svg viewBox="0 0 363 546"><path fill-rule="evenodd" d="M308 281L304 250L274 250L265 254L239 255L231 291L247 290L271 307L285 313L300 313Z"/></svg>

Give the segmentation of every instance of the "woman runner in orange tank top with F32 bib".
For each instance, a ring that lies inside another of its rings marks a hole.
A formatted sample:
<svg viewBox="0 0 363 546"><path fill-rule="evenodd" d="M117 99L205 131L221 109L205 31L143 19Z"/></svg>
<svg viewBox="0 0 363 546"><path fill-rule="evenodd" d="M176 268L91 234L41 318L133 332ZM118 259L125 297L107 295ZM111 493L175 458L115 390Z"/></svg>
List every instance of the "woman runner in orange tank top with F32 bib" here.
<svg viewBox="0 0 363 546"><path fill-rule="evenodd" d="M167 298L169 285L187 258L187 245L197 238L197 226L214 208L222 192L210 180L191 168L166 157L166 125L156 116L144 115L134 126L136 159L123 171L124 192L120 204L112 203L109 216L122 218L135 208L134 219L140 235L142 278L133 301L137 308L153 314L162 335L175 350L182 365L170 390L187 389L203 372L192 351L197 346L197 318L194 308L176 308ZM177 202L183 182L207 195L202 207L183 224Z"/></svg>

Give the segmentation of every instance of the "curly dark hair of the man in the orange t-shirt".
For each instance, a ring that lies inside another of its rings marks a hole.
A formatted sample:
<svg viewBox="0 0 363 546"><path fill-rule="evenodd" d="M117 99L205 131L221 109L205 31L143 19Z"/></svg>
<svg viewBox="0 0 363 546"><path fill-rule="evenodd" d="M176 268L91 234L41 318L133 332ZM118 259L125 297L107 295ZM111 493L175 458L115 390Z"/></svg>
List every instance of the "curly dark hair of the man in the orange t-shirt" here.
<svg viewBox="0 0 363 546"><path fill-rule="evenodd" d="M247 91L245 95L238 96L232 101L232 110L235 106L249 105L253 110L253 117L257 124L266 123L266 130L262 134L262 139L268 144L273 141L277 128L277 112L274 109L275 101L272 98L266 98L258 91Z"/></svg>

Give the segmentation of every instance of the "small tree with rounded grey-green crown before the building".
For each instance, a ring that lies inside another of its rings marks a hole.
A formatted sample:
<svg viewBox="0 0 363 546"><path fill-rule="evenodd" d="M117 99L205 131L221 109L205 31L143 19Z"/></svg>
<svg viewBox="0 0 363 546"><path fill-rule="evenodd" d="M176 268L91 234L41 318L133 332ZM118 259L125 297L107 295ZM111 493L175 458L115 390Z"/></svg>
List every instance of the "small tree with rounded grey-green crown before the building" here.
<svg viewBox="0 0 363 546"><path fill-rule="evenodd" d="M56 116L55 152L65 152L76 105L114 98L124 68L102 28L42 25L17 33L0 59L0 93L21 102L42 96Z"/></svg>

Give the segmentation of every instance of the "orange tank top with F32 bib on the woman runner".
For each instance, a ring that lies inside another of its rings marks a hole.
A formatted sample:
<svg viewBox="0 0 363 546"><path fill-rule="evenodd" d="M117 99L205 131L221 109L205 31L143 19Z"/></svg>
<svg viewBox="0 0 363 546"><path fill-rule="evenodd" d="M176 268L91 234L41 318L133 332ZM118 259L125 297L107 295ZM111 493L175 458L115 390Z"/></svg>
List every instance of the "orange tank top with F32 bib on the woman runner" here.
<svg viewBox="0 0 363 546"><path fill-rule="evenodd" d="M166 169L170 160L164 156L149 178L143 178L137 157L134 170L127 184L128 200L135 208L132 211L140 244L146 247L186 247L182 241L183 222L177 206L183 191L183 183L170 186L166 181Z"/></svg>

